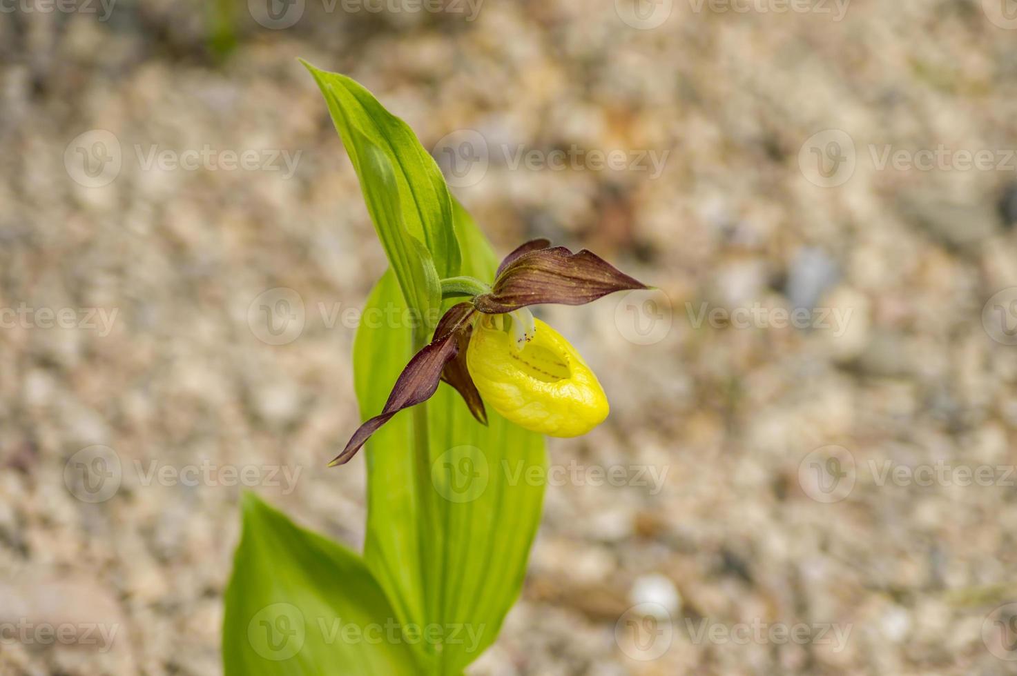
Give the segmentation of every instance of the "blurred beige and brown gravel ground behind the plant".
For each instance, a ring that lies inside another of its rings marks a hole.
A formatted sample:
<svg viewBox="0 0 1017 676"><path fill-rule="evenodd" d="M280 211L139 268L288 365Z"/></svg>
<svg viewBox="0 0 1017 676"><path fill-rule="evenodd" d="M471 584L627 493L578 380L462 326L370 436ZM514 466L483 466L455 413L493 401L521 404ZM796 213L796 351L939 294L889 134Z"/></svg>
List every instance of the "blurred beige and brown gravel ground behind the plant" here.
<svg viewBox="0 0 1017 676"><path fill-rule="evenodd" d="M1009 4L409 1L0 3L0 623L119 627L3 635L0 674L220 673L217 468L362 541L362 455L324 464L384 262L296 57L404 117L501 253L661 289L545 315L612 415L550 441L470 673L1017 673Z"/></svg>

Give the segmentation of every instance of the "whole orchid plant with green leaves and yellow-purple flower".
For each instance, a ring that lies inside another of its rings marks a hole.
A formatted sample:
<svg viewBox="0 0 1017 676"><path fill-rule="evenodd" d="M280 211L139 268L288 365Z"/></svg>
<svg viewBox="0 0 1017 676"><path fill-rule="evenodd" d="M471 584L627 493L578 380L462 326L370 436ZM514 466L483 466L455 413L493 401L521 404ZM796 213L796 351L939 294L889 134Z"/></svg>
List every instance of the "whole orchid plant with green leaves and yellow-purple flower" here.
<svg viewBox="0 0 1017 676"><path fill-rule="evenodd" d="M530 308L647 287L542 239L496 265L412 130L354 80L304 65L390 262L365 314L419 321L364 323L354 344L366 420L331 465L367 444L363 556L245 496L225 673L462 674L522 586L544 486L519 477L545 467L544 435L608 415L589 366Z"/></svg>

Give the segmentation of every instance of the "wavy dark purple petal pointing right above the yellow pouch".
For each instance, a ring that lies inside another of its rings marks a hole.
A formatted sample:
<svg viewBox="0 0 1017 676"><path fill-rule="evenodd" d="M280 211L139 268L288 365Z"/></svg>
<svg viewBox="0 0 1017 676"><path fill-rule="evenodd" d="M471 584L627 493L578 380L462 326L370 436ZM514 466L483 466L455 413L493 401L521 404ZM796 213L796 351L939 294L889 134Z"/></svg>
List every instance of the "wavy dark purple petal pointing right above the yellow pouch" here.
<svg viewBox="0 0 1017 676"><path fill-rule="evenodd" d="M615 291L647 289L600 256L558 246L529 251L510 262L494 280L491 293L473 299L488 314L512 312L528 305L583 305Z"/></svg>

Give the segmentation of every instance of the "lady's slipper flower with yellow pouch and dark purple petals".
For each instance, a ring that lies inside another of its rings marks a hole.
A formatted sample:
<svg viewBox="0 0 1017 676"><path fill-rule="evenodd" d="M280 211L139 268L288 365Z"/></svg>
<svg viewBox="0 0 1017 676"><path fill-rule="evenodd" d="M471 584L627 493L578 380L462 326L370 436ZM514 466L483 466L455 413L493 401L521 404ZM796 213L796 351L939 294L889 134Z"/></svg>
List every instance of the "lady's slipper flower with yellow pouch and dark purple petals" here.
<svg viewBox="0 0 1017 676"><path fill-rule="evenodd" d="M505 256L490 289L476 280L445 280L445 296L470 300L448 308L433 340L403 369L381 413L361 425L330 465L348 462L393 416L430 398L440 380L485 425L486 402L534 432L589 432L607 418L607 396L576 349L528 307L583 305L615 291L647 288L586 249L573 253L544 239Z"/></svg>

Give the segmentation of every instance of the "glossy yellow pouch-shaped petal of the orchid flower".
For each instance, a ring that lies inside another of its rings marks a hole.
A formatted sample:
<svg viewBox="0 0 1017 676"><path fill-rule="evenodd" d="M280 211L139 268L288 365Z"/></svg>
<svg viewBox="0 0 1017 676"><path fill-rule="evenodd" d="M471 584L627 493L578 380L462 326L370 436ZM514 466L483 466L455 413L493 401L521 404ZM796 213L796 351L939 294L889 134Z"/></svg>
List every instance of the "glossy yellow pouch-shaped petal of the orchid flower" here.
<svg viewBox="0 0 1017 676"><path fill-rule="evenodd" d="M540 319L522 350L491 316L474 326L467 367L484 402L534 432L549 436L586 434L609 410L597 376L564 337Z"/></svg>

